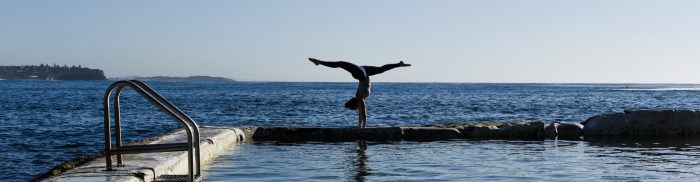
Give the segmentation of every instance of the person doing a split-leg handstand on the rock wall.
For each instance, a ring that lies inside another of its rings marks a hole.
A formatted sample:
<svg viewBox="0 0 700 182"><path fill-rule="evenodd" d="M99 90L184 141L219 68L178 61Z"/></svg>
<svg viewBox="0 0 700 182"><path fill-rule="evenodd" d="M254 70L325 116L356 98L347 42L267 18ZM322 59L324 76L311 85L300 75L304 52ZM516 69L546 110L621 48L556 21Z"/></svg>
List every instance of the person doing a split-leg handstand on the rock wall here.
<svg viewBox="0 0 700 182"><path fill-rule="evenodd" d="M369 76L384 73L387 70L398 67L411 66L411 64L403 63L403 61L394 64L386 64L381 67L357 66L345 61L321 61L316 58L309 58L309 61L316 64L316 66L323 65L331 68L343 68L345 71L350 72L353 78L360 81L360 83L357 85L355 97L345 102L345 108L358 110L358 127L360 128L365 128L367 126L367 107L365 106L365 99L369 97L369 93L372 88L372 85L369 83Z"/></svg>

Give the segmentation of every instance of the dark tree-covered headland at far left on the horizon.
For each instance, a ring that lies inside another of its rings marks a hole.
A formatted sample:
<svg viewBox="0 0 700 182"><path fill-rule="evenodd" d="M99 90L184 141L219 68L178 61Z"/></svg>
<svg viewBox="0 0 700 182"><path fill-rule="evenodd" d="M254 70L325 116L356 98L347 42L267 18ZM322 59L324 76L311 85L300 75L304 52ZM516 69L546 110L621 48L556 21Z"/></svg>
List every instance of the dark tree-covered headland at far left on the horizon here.
<svg viewBox="0 0 700 182"><path fill-rule="evenodd" d="M106 80L104 71L67 65L0 66L0 79L4 80Z"/></svg>

